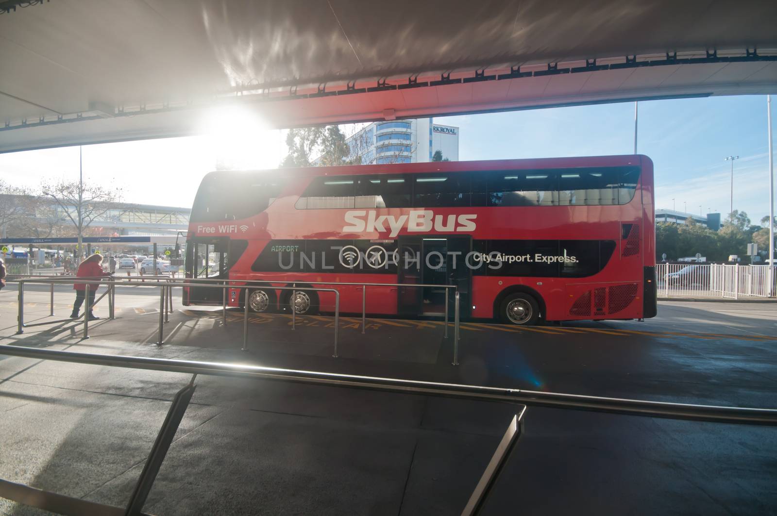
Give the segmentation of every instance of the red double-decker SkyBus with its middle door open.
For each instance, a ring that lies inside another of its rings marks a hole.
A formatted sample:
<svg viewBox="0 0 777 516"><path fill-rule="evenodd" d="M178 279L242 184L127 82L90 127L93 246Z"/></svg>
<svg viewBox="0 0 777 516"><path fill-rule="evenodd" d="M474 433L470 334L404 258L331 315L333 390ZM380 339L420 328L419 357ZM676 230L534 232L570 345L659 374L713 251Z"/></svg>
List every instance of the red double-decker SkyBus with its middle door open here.
<svg viewBox="0 0 777 516"><path fill-rule="evenodd" d="M273 282L249 291L255 312L323 310L333 294L273 287L331 281L386 284L369 287L374 315L439 315L445 289L389 284L453 284L462 317L642 319L656 315L654 240L643 155L214 172L186 277ZM341 312L361 312L361 286L336 288ZM193 285L183 304L221 296Z"/></svg>

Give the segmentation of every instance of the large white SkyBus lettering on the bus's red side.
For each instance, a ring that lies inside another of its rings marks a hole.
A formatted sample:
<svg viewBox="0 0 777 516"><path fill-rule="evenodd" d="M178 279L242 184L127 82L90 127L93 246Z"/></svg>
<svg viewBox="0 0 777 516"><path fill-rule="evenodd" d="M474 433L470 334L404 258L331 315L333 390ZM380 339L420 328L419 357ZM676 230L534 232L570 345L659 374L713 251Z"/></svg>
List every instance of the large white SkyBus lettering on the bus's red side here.
<svg viewBox="0 0 777 516"><path fill-rule="evenodd" d="M411 210L406 215L380 215L375 210L350 210L345 212L343 233L389 232L399 235L402 228L410 233L472 232L476 229L476 214L436 215L431 210Z"/></svg>

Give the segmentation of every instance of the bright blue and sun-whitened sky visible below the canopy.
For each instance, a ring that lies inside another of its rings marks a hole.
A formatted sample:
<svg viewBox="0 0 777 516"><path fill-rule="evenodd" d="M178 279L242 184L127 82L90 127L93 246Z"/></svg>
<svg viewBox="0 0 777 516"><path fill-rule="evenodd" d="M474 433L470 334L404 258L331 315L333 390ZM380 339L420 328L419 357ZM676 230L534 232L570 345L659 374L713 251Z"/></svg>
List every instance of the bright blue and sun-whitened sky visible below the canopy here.
<svg viewBox="0 0 777 516"><path fill-rule="evenodd" d="M202 136L85 145L84 179L119 187L126 202L190 207L200 180L219 160L235 168L275 168L282 161L283 131L266 131L239 113L220 115L203 120L207 130ZM434 120L460 127L462 160L632 154L634 148L633 103ZM733 207L759 224L768 215L767 138L765 96L639 103L637 150L653 160L657 209L720 212L725 217L730 162L724 159L739 155ZM78 180L78 147L0 154L0 179L26 187Z"/></svg>

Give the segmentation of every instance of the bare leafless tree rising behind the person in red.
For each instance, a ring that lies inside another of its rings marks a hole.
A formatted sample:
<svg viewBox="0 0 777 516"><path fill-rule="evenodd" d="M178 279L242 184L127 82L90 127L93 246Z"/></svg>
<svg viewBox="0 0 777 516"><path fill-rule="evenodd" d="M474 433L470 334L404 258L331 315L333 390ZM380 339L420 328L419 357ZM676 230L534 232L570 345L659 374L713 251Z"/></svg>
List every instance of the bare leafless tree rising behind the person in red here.
<svg viewBox="0 0 777 516"><path fill-rule="evenodd" d="M81 181L68 183L64 180L44 184L43 194L51 197L60 207L61 214L55 218L67 217L75 227L78 236L78 256L82 256L84 232L96 218L110 210L120 199L119 189L99 186L85 186Z"/></svg>

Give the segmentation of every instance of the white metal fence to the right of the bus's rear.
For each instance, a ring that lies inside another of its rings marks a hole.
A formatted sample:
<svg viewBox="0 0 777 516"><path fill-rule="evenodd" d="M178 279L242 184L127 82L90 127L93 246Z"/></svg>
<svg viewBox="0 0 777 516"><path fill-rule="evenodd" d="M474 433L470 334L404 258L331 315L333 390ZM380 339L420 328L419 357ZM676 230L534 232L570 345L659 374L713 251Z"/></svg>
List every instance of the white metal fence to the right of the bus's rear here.
<svg viewBox="0 0 777 516"><path fill-rule="evenodd" d="M656 277L664 298L767 298L777 292L777 265L658 263Z"/></svg>

